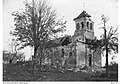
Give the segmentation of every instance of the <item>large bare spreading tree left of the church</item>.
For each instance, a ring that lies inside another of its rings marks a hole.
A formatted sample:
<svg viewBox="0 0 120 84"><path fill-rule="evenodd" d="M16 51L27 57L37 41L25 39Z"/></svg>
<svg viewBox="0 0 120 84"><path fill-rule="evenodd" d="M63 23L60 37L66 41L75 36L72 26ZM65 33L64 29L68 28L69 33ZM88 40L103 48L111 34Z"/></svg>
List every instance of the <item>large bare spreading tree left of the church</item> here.
<svg viewBox="0 0 120 84"><path fill-rule="evenodd" d="M25 11L13 12L15 30L11 33L21 42L21 47L34 48L36 57L38 48L43 50L46 42L64 32L66 21L59 19L55 9L47 1L32 0L25 2Z"/></svg>

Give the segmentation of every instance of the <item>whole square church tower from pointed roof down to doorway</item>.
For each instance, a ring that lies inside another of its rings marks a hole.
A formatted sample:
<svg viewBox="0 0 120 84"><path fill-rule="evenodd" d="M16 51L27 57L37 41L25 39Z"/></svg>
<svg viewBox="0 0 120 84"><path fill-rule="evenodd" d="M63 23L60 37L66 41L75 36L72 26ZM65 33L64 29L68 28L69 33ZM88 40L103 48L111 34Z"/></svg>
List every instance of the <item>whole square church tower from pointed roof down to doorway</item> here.
<svg viewBox="0 0 120 84"><path fill-rule="evenodd" d="M95 39L94 22L85 10L73 20L75 21L76 28L73 35L76 66L93 66L93 52L90 51L87 44L83 44L83 42L86 42L86 39Z"/></svg>

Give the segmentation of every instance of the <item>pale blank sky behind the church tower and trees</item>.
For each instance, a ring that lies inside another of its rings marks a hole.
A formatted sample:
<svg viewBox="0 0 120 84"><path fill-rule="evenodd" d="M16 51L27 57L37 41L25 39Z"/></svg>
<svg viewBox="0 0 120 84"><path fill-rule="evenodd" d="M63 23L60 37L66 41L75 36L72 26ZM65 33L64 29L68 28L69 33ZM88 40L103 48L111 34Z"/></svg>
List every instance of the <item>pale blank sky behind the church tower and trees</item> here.
<svg viewBox="0 0 120 84"><path fill-rule="evenodd" d="M3 49L10 50L9 42L11 36L10 30L13 28L13 11L21 11L24 8L24 0L3 0ZM99 27L101 24L101 15L108 16L109 26L118 26L118 0L48 0L53 8L57 9L58 14L67 21L66 34L73 35L75 31L75 22L73 21L83 10L92 16L94 21L94 32L97 38L103 31ZM84 4L84 5L83 5ZM31 49L24 49L31 51ZM29 56L31 52L27 53Z"/></svg>

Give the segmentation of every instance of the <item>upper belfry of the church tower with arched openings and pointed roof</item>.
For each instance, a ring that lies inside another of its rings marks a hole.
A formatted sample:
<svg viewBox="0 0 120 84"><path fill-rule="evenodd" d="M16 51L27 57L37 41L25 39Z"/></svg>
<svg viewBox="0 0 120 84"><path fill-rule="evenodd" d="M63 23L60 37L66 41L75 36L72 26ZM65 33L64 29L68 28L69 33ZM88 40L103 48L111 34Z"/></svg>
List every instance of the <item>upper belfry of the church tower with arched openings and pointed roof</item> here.
<svg viewBox="0 0 120 84"><path fill-rule="evenodd" d="M75 21L74 36L81 37L84 41L85 38L94 39L94 22L91 20L91 16L83 11L78 17L73 19Z"/></svg>

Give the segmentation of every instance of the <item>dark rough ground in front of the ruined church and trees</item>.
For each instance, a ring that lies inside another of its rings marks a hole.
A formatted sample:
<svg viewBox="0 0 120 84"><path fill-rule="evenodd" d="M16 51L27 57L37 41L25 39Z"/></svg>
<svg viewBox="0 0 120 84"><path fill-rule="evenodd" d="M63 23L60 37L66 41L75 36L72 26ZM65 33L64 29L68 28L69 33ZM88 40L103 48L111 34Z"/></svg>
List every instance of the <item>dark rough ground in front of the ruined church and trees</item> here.
<svg viewBox="0 0 120 84"><path fill-rule="evenodd" d="M100 72L40 71L33 74L31 62L3 64L3 81L118 81L116 75L109 78Z"/></svg>

